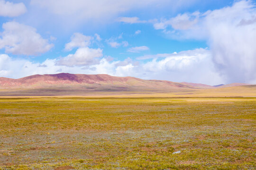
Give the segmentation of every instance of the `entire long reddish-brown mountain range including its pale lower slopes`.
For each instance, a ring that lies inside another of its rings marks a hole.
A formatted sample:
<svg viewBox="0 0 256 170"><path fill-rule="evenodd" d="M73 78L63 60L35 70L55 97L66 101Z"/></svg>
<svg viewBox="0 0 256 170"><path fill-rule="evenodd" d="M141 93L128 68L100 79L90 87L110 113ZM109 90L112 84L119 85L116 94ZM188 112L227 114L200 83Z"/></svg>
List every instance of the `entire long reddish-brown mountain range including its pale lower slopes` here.
<svg viewBox="0 0 256 170"><path fill-rule="evenodd" d="M234 84L238 85L238 84ZM232 86L232 85L230 85ZM227 87L227 85L223 85ZM195 83L175 83L165 80L143 80L106 74L46 74L18 79L0 77L0 95L65 95L97 92L190 92L217 88ZM219 88L219 87L218 87Z"/></svg>

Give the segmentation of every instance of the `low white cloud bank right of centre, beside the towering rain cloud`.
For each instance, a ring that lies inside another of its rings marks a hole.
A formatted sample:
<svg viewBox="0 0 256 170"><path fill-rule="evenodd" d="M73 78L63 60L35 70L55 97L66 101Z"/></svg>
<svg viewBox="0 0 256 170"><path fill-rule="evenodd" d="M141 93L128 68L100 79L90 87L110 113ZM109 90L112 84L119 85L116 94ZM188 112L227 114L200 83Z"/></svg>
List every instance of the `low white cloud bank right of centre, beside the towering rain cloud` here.
<svg viewBox="0 0 256 170"><path fill-rule="evenodd" d="M142 64L142 68L138 68L143 70L144 78L208 85L226 83L216 72L208 50L195 49L165 55L166 57L161 56L163 58L159 59L159 55L156 54L156 57L152 57L153 60Z"/></svg>

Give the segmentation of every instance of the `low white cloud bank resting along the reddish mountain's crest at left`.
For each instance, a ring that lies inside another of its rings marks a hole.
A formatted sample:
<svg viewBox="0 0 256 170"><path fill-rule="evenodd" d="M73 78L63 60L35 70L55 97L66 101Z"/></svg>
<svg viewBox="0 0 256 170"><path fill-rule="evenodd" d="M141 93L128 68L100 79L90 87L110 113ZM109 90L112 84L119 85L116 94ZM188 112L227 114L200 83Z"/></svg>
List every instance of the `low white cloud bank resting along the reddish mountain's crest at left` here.
<svg viewBox="0 0 256 170"><path fill-rule="evenodd" d="M115 65L119 61L110 62L106 58L99 59L94 65L85 67L82 65L74 67L56 65L56 62L58 62L57 59L46 59L42 63L34 63L28 59L15 59L9 57L7 54L0 54L0 77L21 78L35 74L56 74L60 72L72 74L109 74L112 76L127 74L124 69L127 67L126 65L116 67Z"/></svg>

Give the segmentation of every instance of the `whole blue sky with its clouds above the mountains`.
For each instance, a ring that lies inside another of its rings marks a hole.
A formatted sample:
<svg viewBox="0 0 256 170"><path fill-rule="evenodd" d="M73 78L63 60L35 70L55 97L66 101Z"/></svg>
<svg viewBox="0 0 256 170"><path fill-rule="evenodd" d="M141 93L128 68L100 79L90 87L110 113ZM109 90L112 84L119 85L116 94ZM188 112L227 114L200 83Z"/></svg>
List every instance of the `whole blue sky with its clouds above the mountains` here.
<svg viewBox="0 0 256 170"><path fill-rule="evenodd" d="M256 0L0 0L0 77L256 84Z"/></svg>

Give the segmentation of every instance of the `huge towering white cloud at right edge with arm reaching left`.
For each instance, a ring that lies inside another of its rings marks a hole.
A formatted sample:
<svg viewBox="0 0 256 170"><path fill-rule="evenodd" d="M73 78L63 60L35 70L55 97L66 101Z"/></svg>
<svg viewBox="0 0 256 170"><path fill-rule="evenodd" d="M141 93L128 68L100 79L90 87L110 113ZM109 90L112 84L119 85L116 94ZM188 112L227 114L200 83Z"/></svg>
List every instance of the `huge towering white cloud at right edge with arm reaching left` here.
<svg viewBox="0 0 256 170"><path fill-rule="evenodd" d="M228 83L251 83L256 82L255 16L256 5L241 0L205 13L180 14L154 26L171 38L206 40L216 71Z"/></svg>

